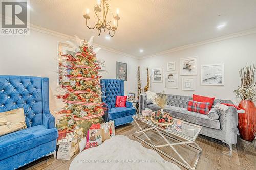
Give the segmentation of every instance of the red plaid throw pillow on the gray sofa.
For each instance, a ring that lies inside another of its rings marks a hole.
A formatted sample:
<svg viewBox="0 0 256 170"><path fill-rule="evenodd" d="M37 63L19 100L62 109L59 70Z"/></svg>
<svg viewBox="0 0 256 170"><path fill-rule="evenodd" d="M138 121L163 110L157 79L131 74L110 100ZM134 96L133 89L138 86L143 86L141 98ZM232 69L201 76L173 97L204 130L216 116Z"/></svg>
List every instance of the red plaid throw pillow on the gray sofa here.
<svg viewBox="0 0 256 170"><path fill-rule="evenodd" d="M196 101L188 101L188 111L208 114L210 111L210 103L209 102L196 102Z"/></svg>

